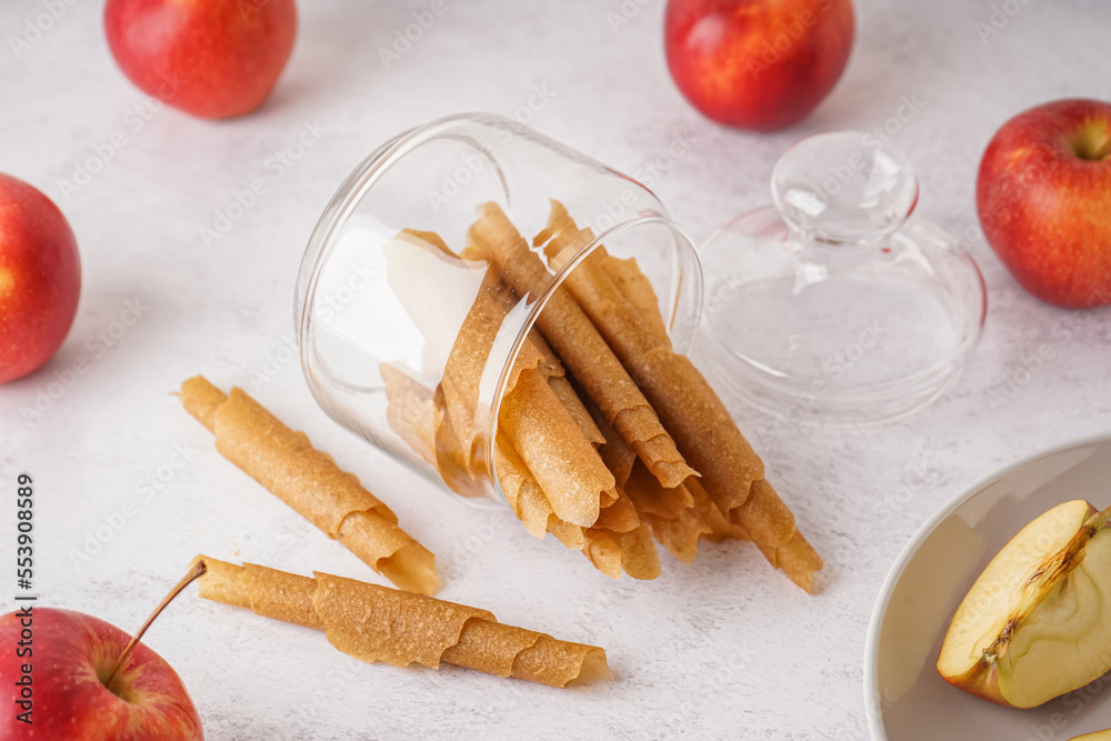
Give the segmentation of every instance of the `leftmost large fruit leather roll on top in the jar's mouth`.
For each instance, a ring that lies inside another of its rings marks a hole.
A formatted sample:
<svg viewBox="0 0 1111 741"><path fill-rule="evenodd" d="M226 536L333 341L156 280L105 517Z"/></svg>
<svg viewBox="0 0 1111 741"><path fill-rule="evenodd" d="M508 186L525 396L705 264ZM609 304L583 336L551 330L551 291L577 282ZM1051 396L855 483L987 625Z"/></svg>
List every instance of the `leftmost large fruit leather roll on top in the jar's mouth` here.
<svg viewBox="0 0 1111 741"><path fill-rule="evenodd" d="M436 260L458 272L474 273L473 267L466 268L443 240L431 232L402 231L386 251L391 270L401 271ZM401 280L400 272L391 273L390 278L397 293L410 284ZM508 289L497 272L488 269L448 353L440 383L448 419L462 437L464 461L476 474L478 469L486 471L484 461L478 465L481 461L478 449L489 429L489 409L482 403L481 387L484 380L490 380L491 372L501 370L489 367L491 349L498 347L506 324L504 307L494 297L499 290ZM598 519L603 492L613 489L613 475L539 370L542 360L541 353L526 340L507 381L498 421L560 519L589 527ZM442 442L439 437L437 440Z"/></svg>

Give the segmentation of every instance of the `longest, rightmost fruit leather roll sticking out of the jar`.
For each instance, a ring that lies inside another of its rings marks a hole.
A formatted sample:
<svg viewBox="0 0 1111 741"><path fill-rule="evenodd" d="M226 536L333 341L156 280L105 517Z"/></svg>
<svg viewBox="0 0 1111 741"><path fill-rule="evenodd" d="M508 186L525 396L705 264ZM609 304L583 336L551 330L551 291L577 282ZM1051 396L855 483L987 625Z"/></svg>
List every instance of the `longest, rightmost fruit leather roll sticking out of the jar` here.
<svg viewBox="0 0 1111 741"><path fill-rule="evenodd" d="M551 237L544 251L557 270L593 240L559 208L553 208L548 229ZM822 561L795 528L794 515L764 479L763 462L702 373L660 341L595 263L581 262L568 276L567 287L651 401L684 458L702 474L718 509L743 528L773 567L809 592ZM653 532L659 537L654 528ZM690 554L685 548L679 550L684 559Z"/></svg>

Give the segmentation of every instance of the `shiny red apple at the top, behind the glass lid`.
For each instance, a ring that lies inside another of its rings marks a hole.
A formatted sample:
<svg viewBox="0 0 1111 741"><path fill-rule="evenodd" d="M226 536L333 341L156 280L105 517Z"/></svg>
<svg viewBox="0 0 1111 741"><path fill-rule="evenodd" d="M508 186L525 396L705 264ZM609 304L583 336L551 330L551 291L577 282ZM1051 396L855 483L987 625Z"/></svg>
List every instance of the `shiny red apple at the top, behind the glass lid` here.
<svg viewBox="0 0 1111 741"><path fill-rule="evenodd" d="M773 131L807 118L844 70L851 0L669 0L671 77L707 117Z"/></svg>

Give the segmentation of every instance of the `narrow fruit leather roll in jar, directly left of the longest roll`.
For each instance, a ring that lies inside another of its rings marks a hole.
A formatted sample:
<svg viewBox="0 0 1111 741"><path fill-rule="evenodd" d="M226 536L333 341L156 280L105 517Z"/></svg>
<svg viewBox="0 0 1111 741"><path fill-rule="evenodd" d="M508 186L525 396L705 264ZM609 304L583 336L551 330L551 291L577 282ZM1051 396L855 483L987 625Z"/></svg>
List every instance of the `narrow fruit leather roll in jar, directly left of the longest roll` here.
<svg viewBox="0 0 1111 741"><path fill-rule="evenodd" d="M539 297L551 274L496 203L479 209L464 257L489 260L517 296ZM674 487L694 471L675 448L651 404L621 367L598 330L562 288L550 297L537 326L605 419L661 483Z"/></svg>

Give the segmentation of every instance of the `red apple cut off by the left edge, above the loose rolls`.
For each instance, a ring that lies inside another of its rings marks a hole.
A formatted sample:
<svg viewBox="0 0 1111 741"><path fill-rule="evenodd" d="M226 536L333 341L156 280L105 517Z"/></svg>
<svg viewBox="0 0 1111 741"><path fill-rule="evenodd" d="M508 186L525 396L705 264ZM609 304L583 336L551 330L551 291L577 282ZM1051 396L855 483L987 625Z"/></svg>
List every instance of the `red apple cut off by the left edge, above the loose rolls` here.
<svg viewBox="0 0 1111 741"><path fill-rule="evenodd" d="M31 186L0 174L0 383L50 360L80 294L81 258L66 217Z"/></svg>

